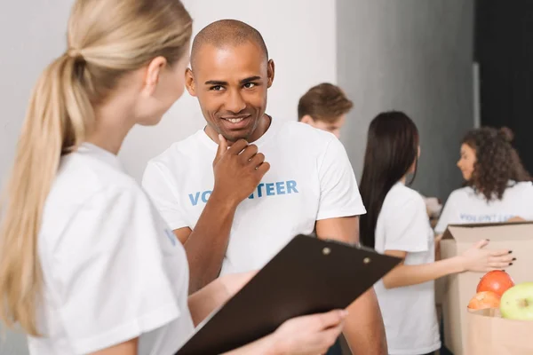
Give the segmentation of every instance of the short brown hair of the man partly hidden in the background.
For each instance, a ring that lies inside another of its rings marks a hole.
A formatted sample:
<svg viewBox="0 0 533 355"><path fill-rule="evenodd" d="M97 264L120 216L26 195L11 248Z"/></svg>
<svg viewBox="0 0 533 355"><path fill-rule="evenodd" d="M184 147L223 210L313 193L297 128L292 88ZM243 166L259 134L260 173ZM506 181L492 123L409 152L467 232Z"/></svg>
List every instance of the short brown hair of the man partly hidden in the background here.
<svg viewBox="0 0 533 355"><path fill-rule="evenodd" d="M298 121L308 114L315 121L335 122L338 116L347 114L353 106L354 103L337 85L321 83L299 99Z"/></svg>

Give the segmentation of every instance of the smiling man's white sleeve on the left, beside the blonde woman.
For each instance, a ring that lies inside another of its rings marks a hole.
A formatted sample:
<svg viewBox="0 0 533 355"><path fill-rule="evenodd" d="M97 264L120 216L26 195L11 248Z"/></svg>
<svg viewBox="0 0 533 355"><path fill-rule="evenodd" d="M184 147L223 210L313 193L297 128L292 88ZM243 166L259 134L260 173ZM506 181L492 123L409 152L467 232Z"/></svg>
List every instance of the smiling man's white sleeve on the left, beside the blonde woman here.
<svg viewBox="0 0 533 355"><path fill-rule="evenodd" d="M185 212L179 204L176 190L166 168L156 162L148 162L142 177L142 187L154 202L155 208L172 231L188 227Z"/></svg>

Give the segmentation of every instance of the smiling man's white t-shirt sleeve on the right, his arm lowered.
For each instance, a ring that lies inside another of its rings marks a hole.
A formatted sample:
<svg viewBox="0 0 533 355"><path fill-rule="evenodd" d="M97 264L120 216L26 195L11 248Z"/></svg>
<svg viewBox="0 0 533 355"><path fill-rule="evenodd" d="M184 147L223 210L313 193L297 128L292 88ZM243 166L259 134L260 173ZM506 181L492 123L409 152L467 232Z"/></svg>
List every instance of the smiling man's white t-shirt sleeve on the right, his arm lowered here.
<svg viewBox="0 0 533 355"><path fill-rule="evenodd" d="M352 164L337 138L331 138L318 169L321 192L317 220L366 213Z"/></svg>

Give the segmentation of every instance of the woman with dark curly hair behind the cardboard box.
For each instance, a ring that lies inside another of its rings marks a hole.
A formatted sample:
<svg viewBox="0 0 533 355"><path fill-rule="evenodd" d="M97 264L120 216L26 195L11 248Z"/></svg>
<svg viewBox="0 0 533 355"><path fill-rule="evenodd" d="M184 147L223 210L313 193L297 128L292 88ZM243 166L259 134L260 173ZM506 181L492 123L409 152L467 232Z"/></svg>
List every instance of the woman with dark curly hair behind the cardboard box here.
<svg viewBox="0 0 533 355"><path fill-rule="evenodd" d="M466 133L457 162L465 186L449 195L435 233L453 224L533 219L533 184L512 140L507 128Z"/></svg>

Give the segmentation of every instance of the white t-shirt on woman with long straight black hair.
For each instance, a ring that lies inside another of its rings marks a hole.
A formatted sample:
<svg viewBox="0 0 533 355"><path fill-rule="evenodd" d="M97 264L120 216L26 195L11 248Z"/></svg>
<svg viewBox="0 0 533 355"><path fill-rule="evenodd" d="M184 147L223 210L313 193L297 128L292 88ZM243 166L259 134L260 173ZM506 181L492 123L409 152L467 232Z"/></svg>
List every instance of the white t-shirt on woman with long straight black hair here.
<svg viewBox="0 0 533 355"><path fill-rule="evenodd" d="M397 183L386 194L376 225L376 250L407 252L404 264L433 263L434 233L419 193ZM375 286L386 328L389 354L417 355L441 347L434 281L402 288Z"/></svg>

